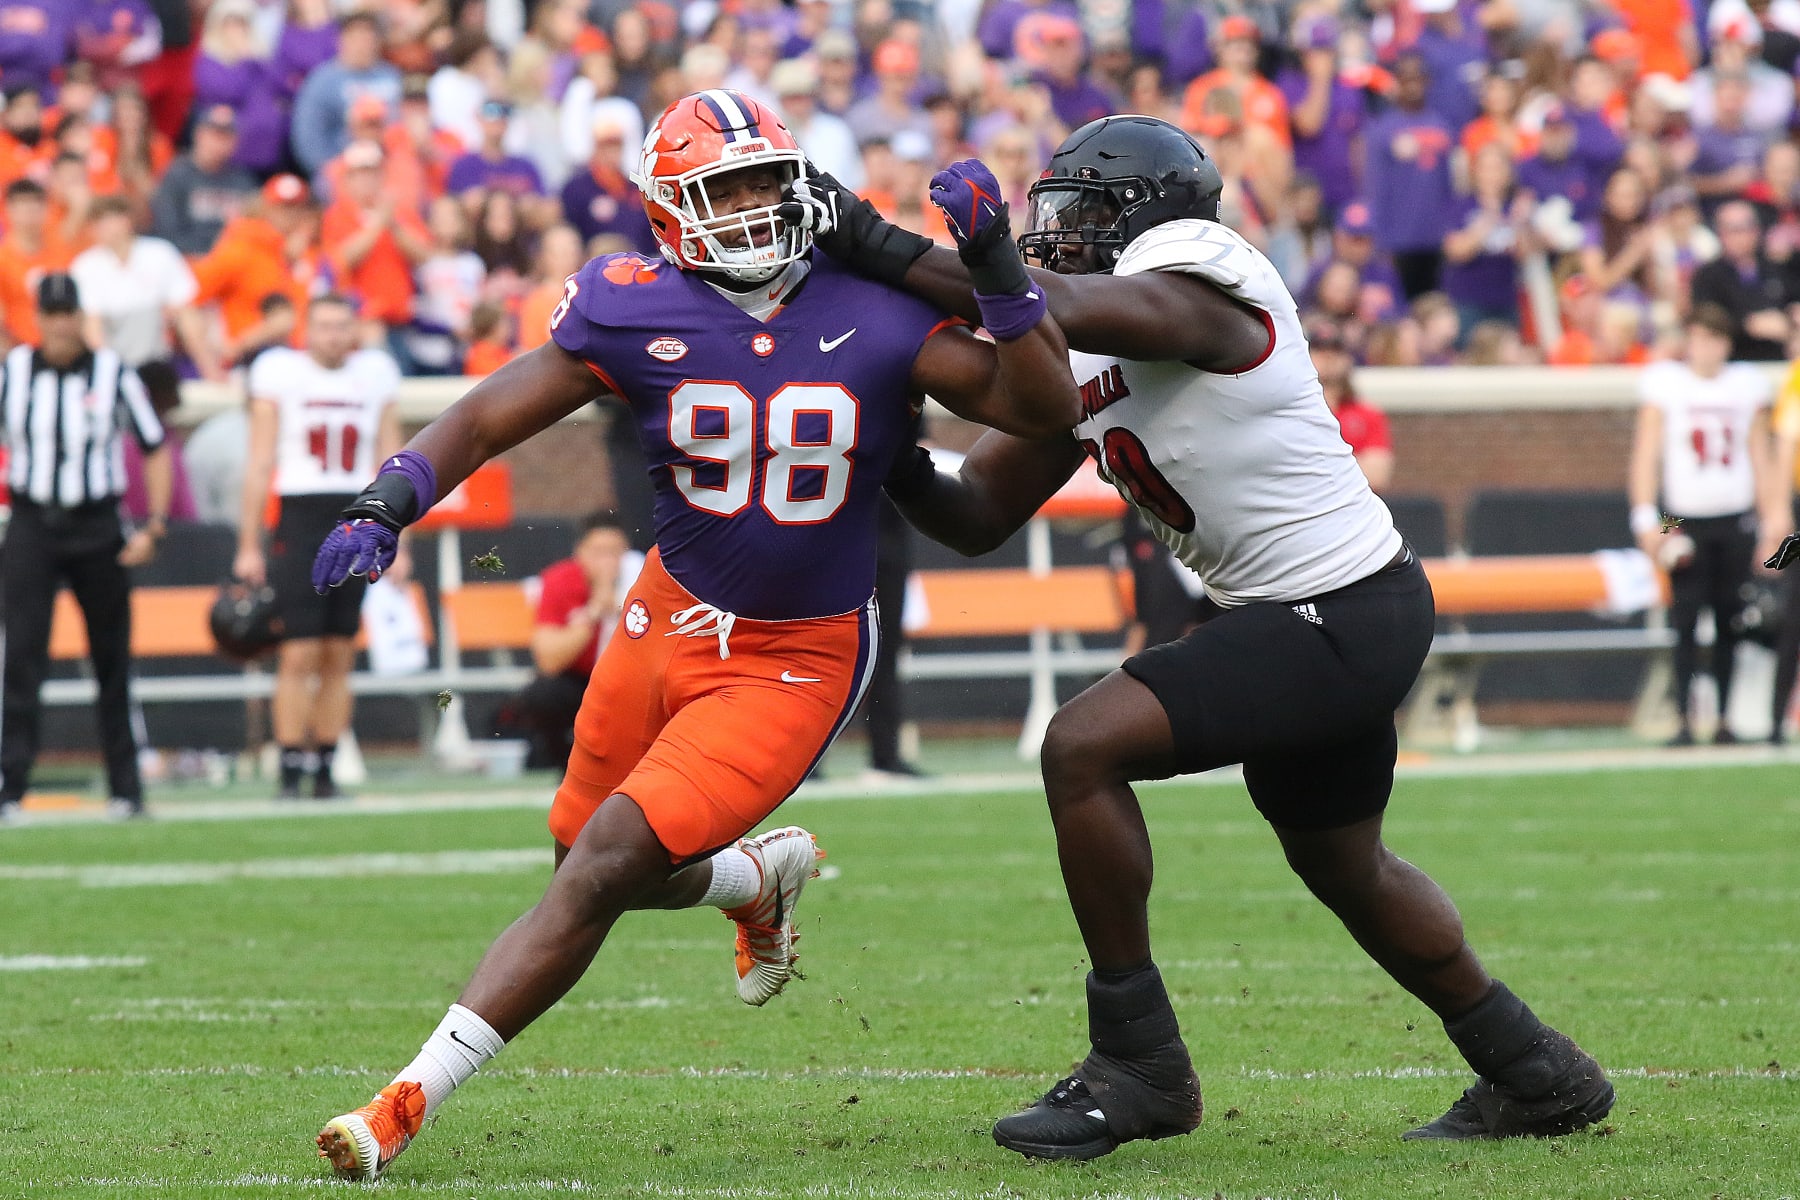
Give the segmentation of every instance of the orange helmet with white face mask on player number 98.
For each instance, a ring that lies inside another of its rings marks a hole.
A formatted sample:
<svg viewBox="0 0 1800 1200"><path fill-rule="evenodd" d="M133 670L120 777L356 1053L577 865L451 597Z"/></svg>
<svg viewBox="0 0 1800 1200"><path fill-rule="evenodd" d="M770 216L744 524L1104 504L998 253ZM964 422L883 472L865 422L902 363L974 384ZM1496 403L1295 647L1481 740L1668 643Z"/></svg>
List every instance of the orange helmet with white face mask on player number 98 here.
<svg viewBox="0 0 1800 1200"><path fill-rule="evenodd" d="M767 205L716 212L709 180L747 169L772 173ZM693 272L761 282L812 248L812 234L776 216L779 193L806 169L799 142L776 113L725 88L684 95L657 117L632 182L644 194L662 257Z"/></svg>

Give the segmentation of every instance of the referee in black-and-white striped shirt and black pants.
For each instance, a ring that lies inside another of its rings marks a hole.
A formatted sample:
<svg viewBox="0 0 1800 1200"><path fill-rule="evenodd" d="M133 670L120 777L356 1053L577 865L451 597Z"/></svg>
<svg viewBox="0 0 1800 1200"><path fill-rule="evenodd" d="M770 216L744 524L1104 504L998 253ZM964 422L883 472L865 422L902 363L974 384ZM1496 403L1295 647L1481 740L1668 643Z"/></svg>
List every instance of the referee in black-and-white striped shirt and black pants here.
<svg viewBox="0 0 1800 1200"><path fill-rule="evenodd" d="M110 811L144 813L131 732L131 578L162 538L175 466L162 423L137 372L81 333L81 297L63 273L38 284L38 345L16 345L0 363L0 416L11 452L13 522L0 551L5 621L0 711L0 820L18 815L38 757L38 693L50 662L50 613L68 585L88 626L99 684L101 747ZM149 520L126 531L124 437L144 448Z"/></svg>

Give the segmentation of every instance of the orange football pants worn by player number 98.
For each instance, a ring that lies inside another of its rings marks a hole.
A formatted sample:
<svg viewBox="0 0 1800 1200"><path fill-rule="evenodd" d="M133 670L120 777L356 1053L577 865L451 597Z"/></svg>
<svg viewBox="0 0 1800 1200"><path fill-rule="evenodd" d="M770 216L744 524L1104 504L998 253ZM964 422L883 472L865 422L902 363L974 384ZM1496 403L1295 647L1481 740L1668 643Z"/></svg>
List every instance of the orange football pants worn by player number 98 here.
<svg viewBox="0 0 1800 1200"><path fill-rule="evenodd" d="M671 862L731 846L776 810L850 723L875 669L875 601L810 621L738 619L675 631L697 601L650 551L601 651L551 833L574 846L614 793L644 813Z"/></svg>

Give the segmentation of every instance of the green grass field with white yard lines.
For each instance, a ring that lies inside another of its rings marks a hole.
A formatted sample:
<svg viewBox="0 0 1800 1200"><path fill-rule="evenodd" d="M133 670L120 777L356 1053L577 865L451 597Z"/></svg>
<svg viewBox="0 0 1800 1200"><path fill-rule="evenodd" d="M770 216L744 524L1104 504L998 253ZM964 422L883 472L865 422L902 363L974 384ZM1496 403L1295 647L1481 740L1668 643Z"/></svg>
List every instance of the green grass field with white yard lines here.
<svg viewBox="0 0 1800 1200"><path fill-rule="evenodd" d="M1298 887L1242 788L1147 797L1206 1123L1091 1164L994 1146L1084 1052L1030 792L794 801L835 873L806 979L731 990L711 910L628 918L382 1184L502 1196L1800 1195L1800 772L1402 781L1390 840L1613 1072L1598 1133L1417 1144L1467 1070ZM0 829L0 1196L340 1191L360 1105L542 891L529 808ZM45 955L52 963L31 955ZM72 959L86 957L85 968Z"/></svg>

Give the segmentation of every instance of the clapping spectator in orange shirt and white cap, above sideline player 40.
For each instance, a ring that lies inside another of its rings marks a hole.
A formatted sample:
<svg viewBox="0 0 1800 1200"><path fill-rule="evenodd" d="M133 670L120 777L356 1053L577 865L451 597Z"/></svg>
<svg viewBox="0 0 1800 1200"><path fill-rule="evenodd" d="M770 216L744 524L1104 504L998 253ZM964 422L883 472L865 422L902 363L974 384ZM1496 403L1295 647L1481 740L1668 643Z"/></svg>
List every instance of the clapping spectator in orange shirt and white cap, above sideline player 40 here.
<svg viewBox="0 0 1800 1200"><path fill-rule="evenodd" d="M338 290L356 300L358 317L398 344L398 331L412 320L412 268L430 255L430 232L418 212L398 207L382 189L380 146L351 144L344 167L344 187L320 223L326 257Z"/></svg>

